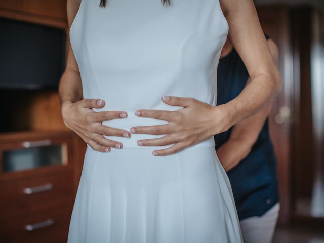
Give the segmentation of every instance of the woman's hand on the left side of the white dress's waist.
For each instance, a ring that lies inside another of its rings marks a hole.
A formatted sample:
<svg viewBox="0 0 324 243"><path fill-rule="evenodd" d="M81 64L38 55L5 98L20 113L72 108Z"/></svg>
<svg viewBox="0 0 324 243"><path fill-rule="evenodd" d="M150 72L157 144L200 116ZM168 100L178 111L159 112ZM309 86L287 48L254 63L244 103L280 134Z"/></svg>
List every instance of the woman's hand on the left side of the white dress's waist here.
<svg viewBox="0 0 324 243"><path fill-rule="evenodd" d="M101 99L83 99L72 103L65 101L62 104L62 117L64 124L80 136L94 150L110 152L111 147L122 148L123 144L105 138L107 136L130 137L127 130L102 125L102 121L117 118L126 118L125 111L93 111L92 108L102 108Z"/></svg>

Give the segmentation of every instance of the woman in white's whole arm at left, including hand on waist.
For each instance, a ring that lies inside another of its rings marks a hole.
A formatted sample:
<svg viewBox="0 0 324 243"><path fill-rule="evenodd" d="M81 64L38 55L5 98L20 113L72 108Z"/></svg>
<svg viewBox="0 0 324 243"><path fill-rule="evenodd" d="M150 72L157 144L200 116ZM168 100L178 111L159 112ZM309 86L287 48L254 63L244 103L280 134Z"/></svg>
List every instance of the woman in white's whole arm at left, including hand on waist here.
<svg viewBox="0 0 324 243"><path fill-rule="evenodd" d="M69 29L79 9L80 0L67 0L66 12ZM95 112L92 108L102 108L102 99L84 99L79 68L69 42L65 71L60 79L59 97L64 124L80 136L94 150L110 152L111 147L122 148L123 144L105 138L107 136L130 137L130 132L101 124L104 120L126 118L124 111Z"/></svg>

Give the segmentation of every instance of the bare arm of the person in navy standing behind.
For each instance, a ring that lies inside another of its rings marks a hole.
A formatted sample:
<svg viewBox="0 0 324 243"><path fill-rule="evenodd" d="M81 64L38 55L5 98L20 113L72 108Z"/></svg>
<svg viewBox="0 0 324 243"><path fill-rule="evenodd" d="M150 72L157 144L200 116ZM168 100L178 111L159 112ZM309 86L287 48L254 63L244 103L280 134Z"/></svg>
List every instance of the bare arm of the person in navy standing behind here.
<svg viewBox="0 0 324 243"><path fill-rule="evenodd" d="M274 60L277 62L278 49L276 44L268 39L268 45ZM249 78L247 85L250 82L251 79ZM217 156L225 171L229 171L238 165L250 153L271 110L271 105L272 103L266 105L258 113L234 125L228 141L217 150Z"/></svg>

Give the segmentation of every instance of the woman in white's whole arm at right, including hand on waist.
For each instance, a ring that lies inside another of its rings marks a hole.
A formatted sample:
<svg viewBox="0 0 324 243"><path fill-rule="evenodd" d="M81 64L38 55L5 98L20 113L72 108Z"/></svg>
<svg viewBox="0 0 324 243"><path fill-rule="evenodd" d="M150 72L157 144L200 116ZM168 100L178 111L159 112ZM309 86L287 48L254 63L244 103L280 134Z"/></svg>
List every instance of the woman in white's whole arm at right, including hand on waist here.
<svg viewBox="0 0 324 243"><path fill-rule="evenodd" d="M167 134L141 139L142 146L172 144L154 150L153 155L168 155L222 133L269 104L279 93L281 78L262 31L253 0L220 0L229 26L229 39L244 62L251 82L233 100L210 105L192 97L164 96L167 105L183 106L176 111L139 109L140 117L170 121L167 125L135 126L139 134ZM199 82L199 80L197 80ZM172 115L171 115L172 114Z"/></svg>

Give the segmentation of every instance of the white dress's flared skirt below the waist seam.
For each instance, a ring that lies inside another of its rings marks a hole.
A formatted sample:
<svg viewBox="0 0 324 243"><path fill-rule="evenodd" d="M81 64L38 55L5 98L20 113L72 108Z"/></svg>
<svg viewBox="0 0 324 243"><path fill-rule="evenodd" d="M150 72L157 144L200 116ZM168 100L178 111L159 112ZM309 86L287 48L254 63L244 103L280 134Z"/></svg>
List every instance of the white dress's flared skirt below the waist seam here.
<svg viewBox="0 0 324 243"><path fill-rule="evenodd" d="M86 150L69 243L241 242L228 177L214 147Z"/></svg>

